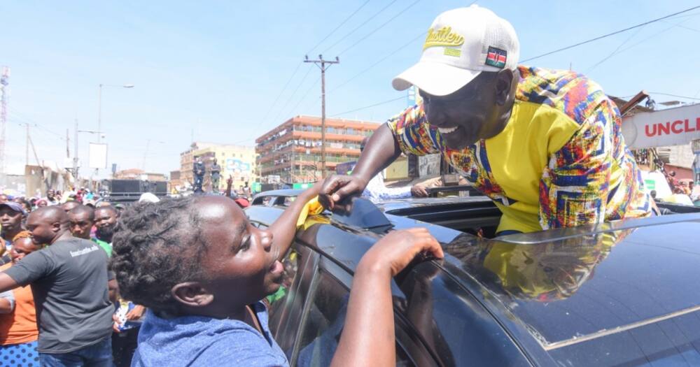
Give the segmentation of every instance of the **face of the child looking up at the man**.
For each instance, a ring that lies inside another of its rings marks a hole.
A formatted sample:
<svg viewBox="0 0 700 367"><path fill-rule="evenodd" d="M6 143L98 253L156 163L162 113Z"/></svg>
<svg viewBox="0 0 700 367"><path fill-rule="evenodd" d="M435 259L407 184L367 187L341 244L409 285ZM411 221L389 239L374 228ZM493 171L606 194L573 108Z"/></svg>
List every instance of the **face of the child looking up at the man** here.
<svg viewBox="0 0 700 367"><path fill-rule="evenodd" d="M252 226L235 201L224 196L202 198L198 214L208 245L203 283L214 296L213 308L251 304L277 291L283 266L271 232Z"/></svg>

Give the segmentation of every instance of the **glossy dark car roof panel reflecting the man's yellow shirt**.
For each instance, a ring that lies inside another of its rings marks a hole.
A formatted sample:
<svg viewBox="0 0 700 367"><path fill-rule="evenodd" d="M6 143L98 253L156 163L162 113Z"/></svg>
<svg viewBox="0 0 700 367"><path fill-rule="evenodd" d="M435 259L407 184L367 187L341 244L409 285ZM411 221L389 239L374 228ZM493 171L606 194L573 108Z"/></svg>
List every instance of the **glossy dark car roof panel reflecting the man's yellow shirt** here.
<svg viewBox="0 0 700 367"><path fill-rule="evenodd" d="M700 215L671 217L548 240L545 232L463 238L446 247L447 261L464 285L476 291L476 280L486 303L554 350L700 310Z"/></svg>

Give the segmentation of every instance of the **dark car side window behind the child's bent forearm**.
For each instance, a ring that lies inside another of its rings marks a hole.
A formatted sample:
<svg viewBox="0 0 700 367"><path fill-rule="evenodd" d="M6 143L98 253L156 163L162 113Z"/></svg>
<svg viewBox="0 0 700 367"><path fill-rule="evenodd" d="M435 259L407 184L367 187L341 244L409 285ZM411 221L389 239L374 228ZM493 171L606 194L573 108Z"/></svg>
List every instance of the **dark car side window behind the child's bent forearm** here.
<svg viewBox="0 0 700 367"><path fill-rule="evenodd" d="M318 286L303 326L296 366L330 366L345 324L349 290L325 271L318 275ZM413 366L398 344L396 365Z"/></svg>

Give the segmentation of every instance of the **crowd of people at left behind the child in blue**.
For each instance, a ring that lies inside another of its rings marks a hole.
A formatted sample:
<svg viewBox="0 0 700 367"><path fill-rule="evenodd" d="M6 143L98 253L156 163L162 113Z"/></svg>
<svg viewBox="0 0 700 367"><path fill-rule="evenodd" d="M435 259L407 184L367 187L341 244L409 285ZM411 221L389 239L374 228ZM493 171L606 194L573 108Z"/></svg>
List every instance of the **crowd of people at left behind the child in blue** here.
<svg viewBox="0 0 700 367"><path fill-rule="evenodd" d="M145 308L108 271L124 208L85 189L0 195L2 366L130 366Z"/></svg>

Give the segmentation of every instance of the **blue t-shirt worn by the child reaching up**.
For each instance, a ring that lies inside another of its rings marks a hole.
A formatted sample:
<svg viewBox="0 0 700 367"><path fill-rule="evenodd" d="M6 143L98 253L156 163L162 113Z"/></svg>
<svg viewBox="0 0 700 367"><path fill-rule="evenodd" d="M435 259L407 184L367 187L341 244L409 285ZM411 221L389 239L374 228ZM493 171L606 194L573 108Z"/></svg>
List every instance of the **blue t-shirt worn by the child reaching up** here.
<svg viewBox="0 0 700 367"><path fill-rule="evenodd" d="M255 303L263 333L235 319L163 319L151 310L139 331L132 366L288 366L267 327L267 308Z"/></svg>

